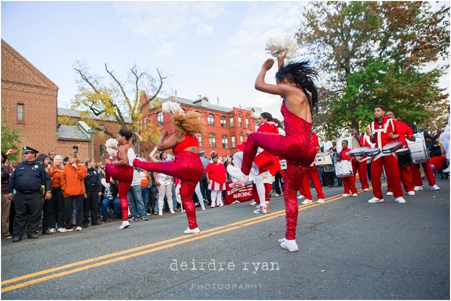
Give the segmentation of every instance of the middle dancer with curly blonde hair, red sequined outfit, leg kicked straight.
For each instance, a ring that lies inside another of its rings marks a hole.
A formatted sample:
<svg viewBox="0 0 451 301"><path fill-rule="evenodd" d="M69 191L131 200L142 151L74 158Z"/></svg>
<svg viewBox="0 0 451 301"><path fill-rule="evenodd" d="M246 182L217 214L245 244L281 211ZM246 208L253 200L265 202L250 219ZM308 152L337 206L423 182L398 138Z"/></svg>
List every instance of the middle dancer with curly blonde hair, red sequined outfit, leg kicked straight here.
<svg viewBox="0 0 451 301"><path fill-rule="evenodd" d="M166 130L162 130L157 149L164 151L172 148L175 159L164 162L144 162L134 159L132 163L133 166L147 171L160 172L180 179L180 196L189 225L183 233L198 233L200 230L197 227L196 209L192 202L192 195L197 182L202 177L203 165L199 156L199 142L194 134L202 133L204 124L200 119L200 113L194 111L183 113L180 110L172 115L172 123L175 133L165 140L168 133Z"/></svg>

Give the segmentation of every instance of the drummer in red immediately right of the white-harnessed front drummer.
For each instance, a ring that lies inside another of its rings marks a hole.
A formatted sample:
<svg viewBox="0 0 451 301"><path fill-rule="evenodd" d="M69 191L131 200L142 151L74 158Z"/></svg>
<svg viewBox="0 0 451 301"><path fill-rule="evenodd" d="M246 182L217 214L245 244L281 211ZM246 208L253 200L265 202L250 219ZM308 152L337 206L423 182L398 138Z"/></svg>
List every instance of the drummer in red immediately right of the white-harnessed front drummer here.
<svg viewBox="0 0 451 301"><path fill-rule="evenodd" d="M396 116L393 112L385 113L385 117L391 118L394 122L396 134L392 134L392 137L402 143L402 148L409 148L407 146L406 139L410 141L415 141L415 136L413 136L412 130L410 127L402 121L396 120ZM413 179L412 179L412 170L410 168L411 165L407 165L404 167L399 167L399 175L401 176L402 186L404 186L404 190L407 191L408 195L415 195L415 191L413 191ZM388 183L387 195L393 195L393 187L391 187L391 183Z"/></svg>

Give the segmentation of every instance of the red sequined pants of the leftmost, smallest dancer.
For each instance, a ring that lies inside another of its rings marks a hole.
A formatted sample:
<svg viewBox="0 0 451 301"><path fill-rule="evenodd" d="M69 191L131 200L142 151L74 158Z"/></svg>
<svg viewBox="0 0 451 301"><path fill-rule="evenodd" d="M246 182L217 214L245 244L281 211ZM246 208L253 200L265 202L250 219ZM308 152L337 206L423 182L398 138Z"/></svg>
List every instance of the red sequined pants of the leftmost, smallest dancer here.
<svg viewBox="0 0 451 301"><path fill-rule="evenodd" d="M113 178L118 182L119 200L121 204L122 220L128 220L128 201L127 194L130 184L133 181L133 167L129 165L105 164L105 180L110 182Z"/></svg>

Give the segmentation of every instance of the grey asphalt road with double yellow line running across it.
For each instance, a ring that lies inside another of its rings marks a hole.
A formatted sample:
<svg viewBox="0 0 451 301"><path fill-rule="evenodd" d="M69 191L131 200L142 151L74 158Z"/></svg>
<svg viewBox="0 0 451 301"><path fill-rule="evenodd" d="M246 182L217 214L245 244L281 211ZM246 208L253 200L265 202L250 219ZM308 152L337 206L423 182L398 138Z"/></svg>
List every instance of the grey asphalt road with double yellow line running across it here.
<svg viewBox="0 0 451 301"><path fill-rule="evenodd" d="M300 206L293 253L278 242L282 197L268 215L249 202L197 211L196 235L166 213L2 239L2 299L449 299L449 180L437 184L405 204L327 188L324 204Z"/></svg>

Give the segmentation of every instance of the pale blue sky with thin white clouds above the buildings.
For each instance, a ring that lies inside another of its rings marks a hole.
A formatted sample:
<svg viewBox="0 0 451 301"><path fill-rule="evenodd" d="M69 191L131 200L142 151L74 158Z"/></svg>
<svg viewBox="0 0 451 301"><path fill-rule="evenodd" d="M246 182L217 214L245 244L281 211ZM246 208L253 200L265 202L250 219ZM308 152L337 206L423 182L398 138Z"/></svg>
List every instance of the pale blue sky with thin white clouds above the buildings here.
<svg viewBox="0 0 451 301"><path fill-rule="evenodd" d="M208 96L222 106L260 106L281 117L281 99L254 89L271 37L290 35L305 3L2 2L2 38L59 86L60 106L77 91L76 61L98 75L136 63L168 76L165 92ZM275 67L267 79L274 82ZM442 86L448 87L449 76Z"/></svg>

